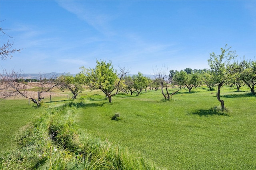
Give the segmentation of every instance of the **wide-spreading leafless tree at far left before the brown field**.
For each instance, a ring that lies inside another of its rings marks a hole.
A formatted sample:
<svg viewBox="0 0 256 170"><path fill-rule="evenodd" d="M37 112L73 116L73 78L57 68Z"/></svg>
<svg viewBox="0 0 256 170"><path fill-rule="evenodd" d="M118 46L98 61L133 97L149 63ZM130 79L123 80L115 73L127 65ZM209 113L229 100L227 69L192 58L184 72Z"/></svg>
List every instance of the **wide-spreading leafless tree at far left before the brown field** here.
<svg viewBox="0 0 256 170"><path fill-rule="evenodd" d="M50 78L49 78L50 76ZM40 106L43 93L49 92L52 88L58 86L56 82L56 74L39 74L39 80L36 83L37 85L37 95L34 91L30 90L30 87L26 84L19 82L18 80L23 79L21 71L7 72L3 70L3 73L0 73L0 96L3 99L12 97L12 96L23 96L25 98L31 99L37 106Z"/></svg>

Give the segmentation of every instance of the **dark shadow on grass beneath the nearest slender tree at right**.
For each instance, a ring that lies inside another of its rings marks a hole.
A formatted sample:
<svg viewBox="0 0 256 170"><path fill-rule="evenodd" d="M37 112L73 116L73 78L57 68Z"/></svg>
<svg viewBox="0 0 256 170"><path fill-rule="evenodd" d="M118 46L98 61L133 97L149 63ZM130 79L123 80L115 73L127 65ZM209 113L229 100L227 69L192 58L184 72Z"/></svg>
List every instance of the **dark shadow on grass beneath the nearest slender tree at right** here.
<svg viewBox="0 0 256 170"><path fill-rule="evenodd" d="M221 109L218 109L216 107L210 108L210 109L199 109L196 110L192 113L192 115L200 115L200 116L213 116L213 115L221 115L221 116L230 116L228 111L224 110L222 111Z"/></svg>

